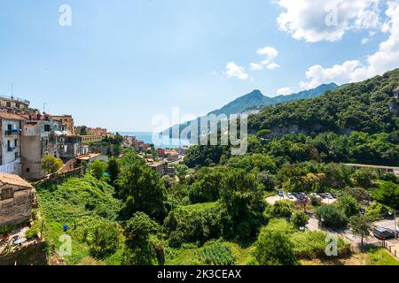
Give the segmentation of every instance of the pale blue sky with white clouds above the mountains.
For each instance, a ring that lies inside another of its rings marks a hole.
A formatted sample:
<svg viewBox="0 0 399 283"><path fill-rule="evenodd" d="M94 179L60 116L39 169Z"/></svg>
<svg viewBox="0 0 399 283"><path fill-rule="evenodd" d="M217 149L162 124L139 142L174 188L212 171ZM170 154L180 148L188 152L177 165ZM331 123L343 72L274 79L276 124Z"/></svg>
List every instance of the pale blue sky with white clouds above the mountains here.
<svg viewBox="0 0 399 283"><path fill-rule="evenodd" d="M315 20L329 2L333 27ZM78 125L151 131L173 106L201 115L255 88L289 94L398 67L399 4L388 2L2 0L0 94L14 83L15 96Z"/></svg>

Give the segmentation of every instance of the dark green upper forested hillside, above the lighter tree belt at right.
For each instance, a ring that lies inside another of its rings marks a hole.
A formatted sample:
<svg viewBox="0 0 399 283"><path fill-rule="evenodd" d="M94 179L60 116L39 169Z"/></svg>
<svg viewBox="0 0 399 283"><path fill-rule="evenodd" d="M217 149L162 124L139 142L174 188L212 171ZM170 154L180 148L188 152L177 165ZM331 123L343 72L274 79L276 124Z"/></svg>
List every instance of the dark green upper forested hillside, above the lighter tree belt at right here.
<svg viewBox="0 0 399 283"><path fill-rule="evenodd" d="M249 120L253 132L273 134L332 131L348 134L391 133L399 125L399 69L371 80L349 84L324 96L267 107Z"/></svg>

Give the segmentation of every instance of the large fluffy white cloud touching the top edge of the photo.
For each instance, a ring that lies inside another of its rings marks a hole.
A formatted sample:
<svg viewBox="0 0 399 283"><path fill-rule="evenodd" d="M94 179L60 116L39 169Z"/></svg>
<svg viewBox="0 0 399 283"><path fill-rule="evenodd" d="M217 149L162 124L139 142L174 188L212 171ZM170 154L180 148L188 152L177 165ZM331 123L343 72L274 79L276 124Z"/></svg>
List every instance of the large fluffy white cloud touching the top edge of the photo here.
<svg viewBox="0 0 399 283"><path fill-rule="evenodd" d="M277 0L280 30L307 42L339 41L351 29L379 28L380 0Z"/></svg>

